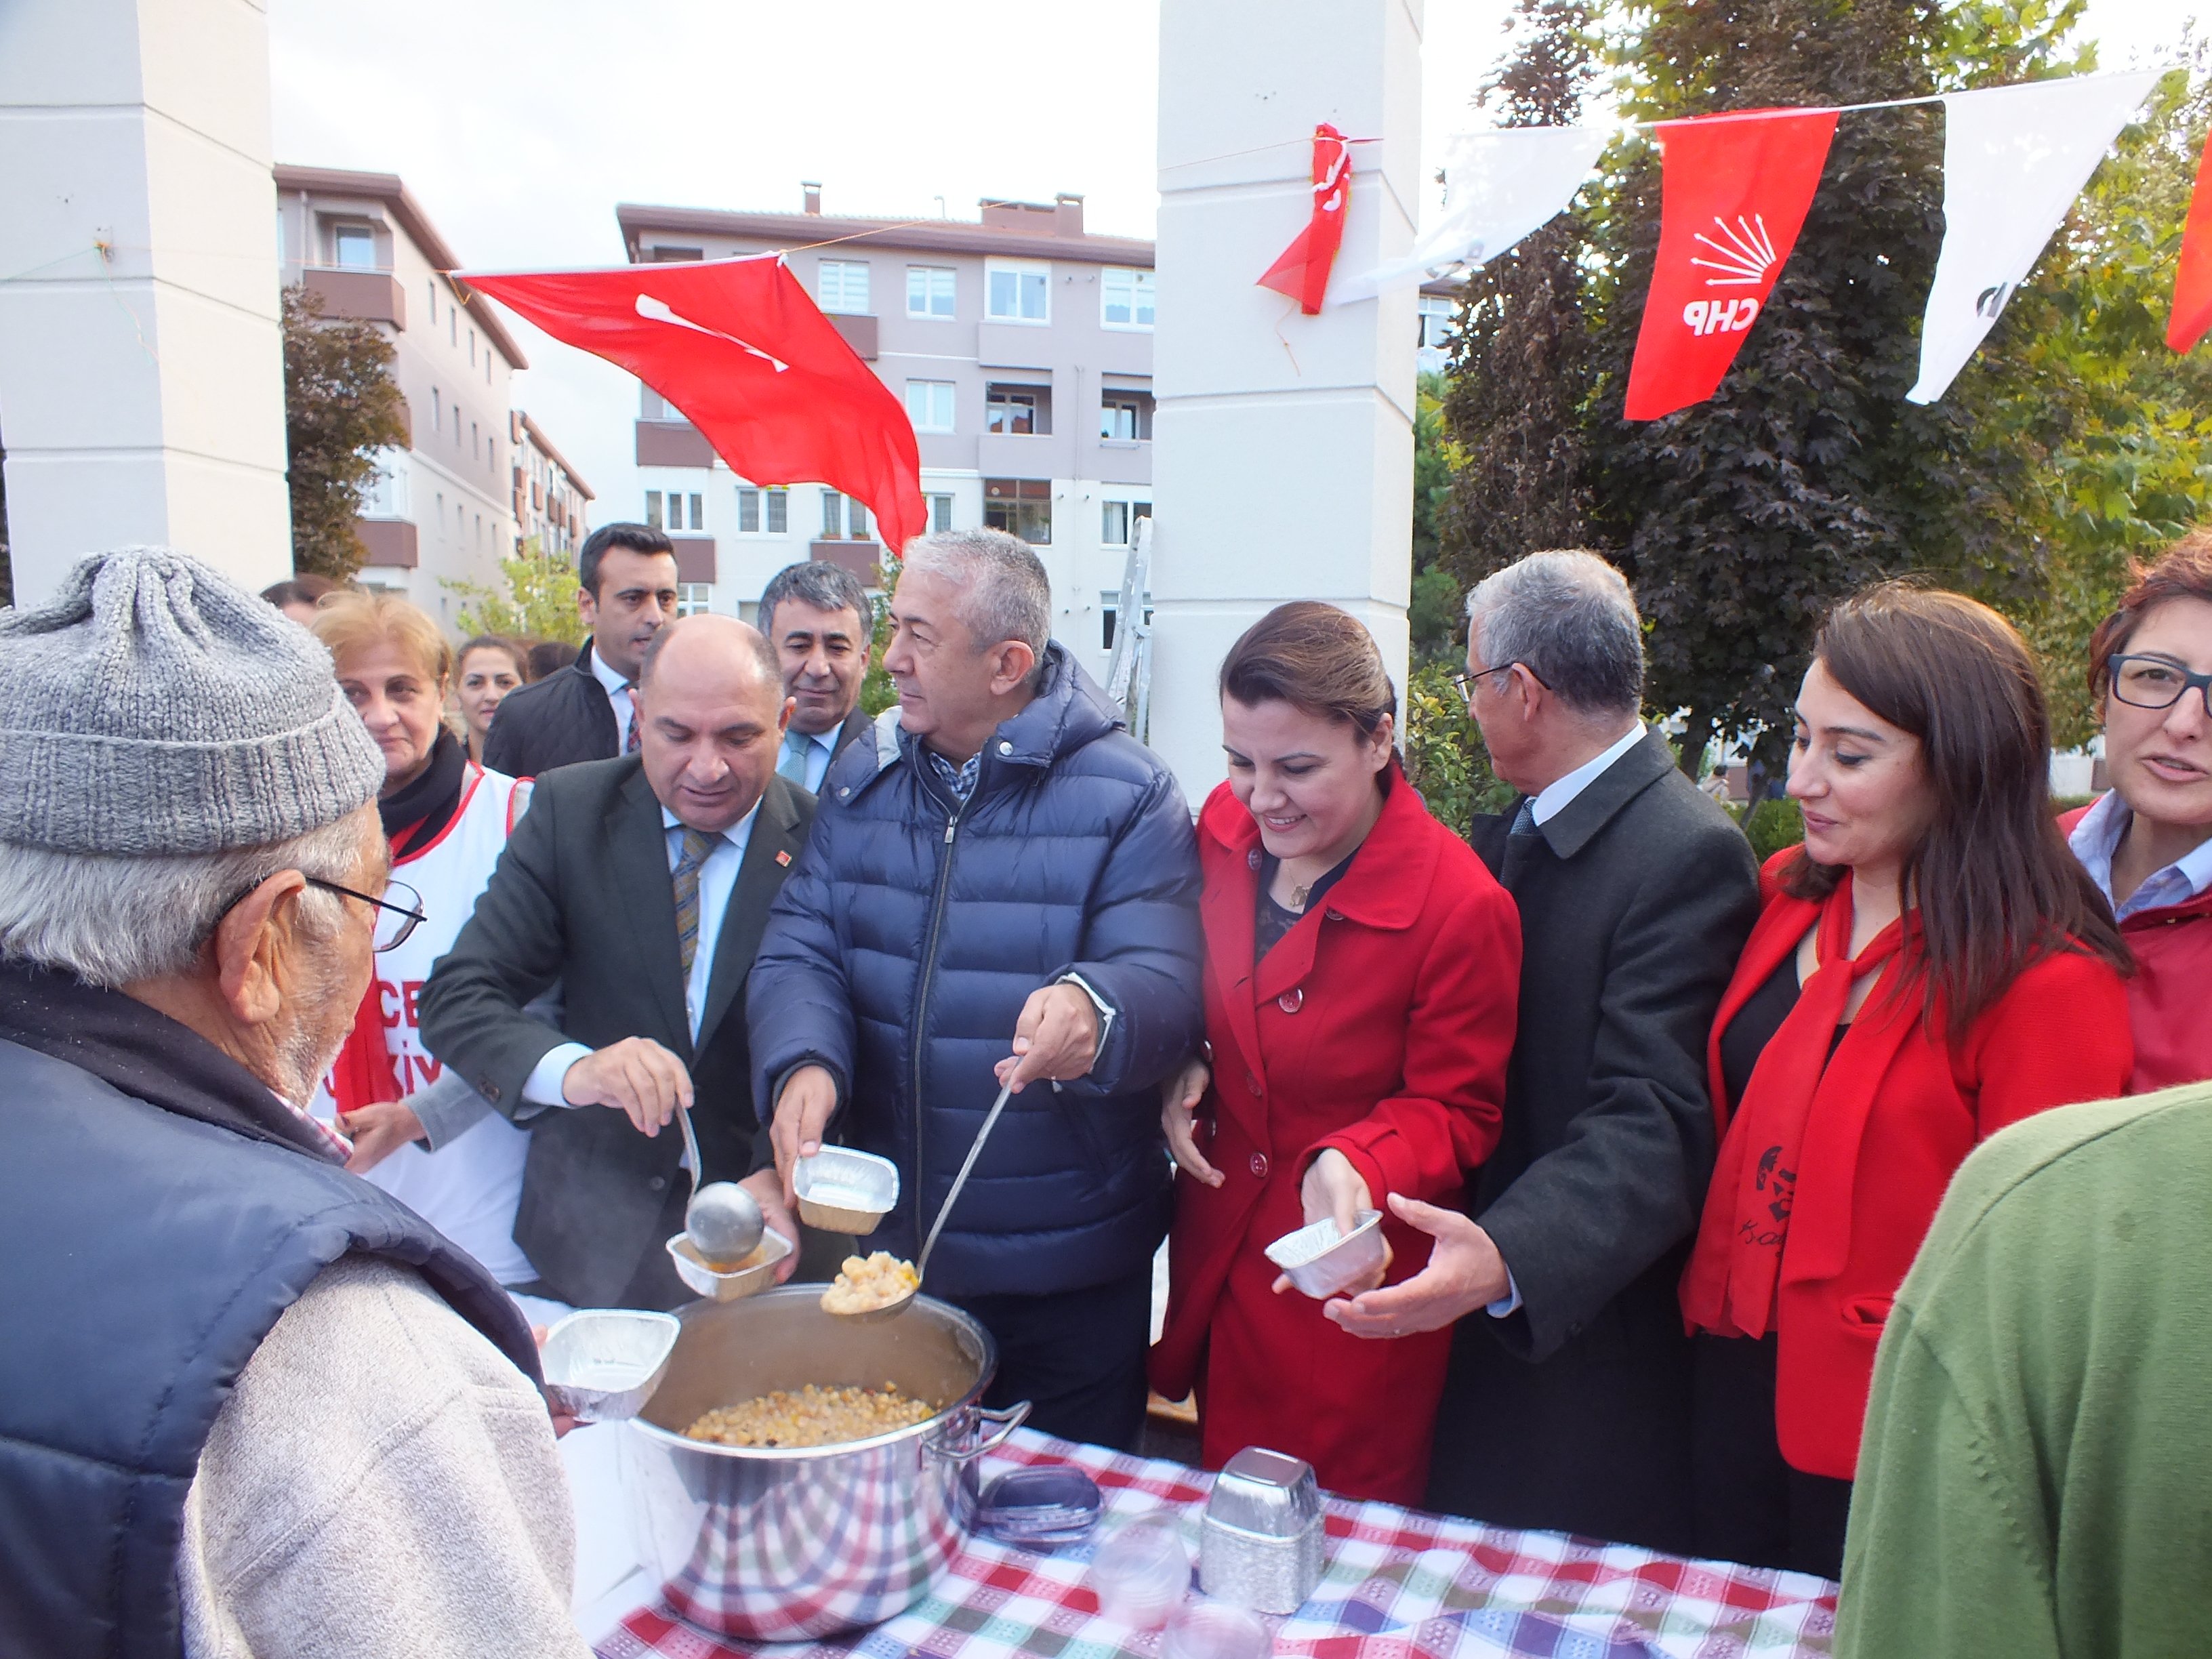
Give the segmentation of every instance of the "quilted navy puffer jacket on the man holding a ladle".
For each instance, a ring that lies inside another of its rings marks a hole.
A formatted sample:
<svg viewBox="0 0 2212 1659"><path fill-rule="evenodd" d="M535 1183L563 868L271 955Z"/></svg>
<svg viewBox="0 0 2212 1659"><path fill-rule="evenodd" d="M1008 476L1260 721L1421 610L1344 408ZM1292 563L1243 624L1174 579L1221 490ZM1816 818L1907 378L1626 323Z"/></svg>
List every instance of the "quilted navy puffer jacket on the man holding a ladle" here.
<svg viewBox="0 0 2212 1659"><path fill-rule="evenodd" d="M964 807L889 726L838 754L754 958L763 1117L774 1084L816 1062L845 1102L836 1139L898 1164L898 1210L869 1250L914 1259L1022 1004L1068 971L1115 1009L1106 1042L1088 1077L1006 1104L929 1259L938 1294L1077 1290L1152 1256L1170 1170L1159 1082L1206 1024L1183 792L1055 644Z"/></svg>

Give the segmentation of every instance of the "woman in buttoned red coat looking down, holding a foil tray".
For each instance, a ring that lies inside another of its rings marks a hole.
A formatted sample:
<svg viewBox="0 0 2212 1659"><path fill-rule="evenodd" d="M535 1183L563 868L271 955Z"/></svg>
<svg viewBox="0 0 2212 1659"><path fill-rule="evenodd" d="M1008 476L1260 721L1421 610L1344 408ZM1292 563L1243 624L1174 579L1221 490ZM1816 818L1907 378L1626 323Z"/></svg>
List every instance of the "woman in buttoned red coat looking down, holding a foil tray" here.
<svg viewBox="0 0 2212 1659"><path fill-rule="evenodd" d="M1199 814L1212 1064L1164 1102L1183 1177L1152 1387L1197 1385L1208 1469L1263 1444L1413 1504L1451 1332L1347 1336L1263 1254L1385 1192L1455 1203L1498 1144L1520 918L1398 770L1396 701L1374 639L1325 604L1279 606L1221 664L1230 781ZM1383 1230L1387 1279L1418 1272L1429 1237Z"/></svg>

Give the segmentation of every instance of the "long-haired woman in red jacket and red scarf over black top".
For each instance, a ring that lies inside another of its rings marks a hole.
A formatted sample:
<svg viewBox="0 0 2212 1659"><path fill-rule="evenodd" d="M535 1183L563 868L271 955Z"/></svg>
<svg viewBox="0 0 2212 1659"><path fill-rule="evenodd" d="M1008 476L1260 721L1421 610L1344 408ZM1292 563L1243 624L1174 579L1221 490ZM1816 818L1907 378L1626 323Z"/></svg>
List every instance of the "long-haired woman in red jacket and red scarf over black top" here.
<svg viewBox="0 0 2212 1659"><path fill-rule="evenodd" d="M1878 586L1814 641L1805 845L1767 860L1708 1048L1701 1555L1840 1575L1874 1347L1944 1186L2006 1124L2128 1086L2128 953L2051 816L2048 732L1973 599Z"/></svg>

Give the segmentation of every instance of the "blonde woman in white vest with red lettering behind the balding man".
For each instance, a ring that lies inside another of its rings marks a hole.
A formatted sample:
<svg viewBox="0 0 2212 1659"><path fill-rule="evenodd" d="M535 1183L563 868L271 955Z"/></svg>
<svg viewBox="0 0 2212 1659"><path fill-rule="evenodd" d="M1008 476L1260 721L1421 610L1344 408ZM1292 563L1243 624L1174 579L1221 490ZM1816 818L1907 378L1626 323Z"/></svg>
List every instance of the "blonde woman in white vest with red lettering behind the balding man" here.
<svg viewBox="0 0 2212 1659"><path fill-rule="evenodd" d="M376 810L394 874L376 911L376 978L319 1106L354 1139L349 1170L416 1210L502 1285L529 1285L538 1272L513 1239L529 1135L447 1075L416 1029L422 980L476 909L529 805L529 783L476 765L440 719L453 653L414 604L396 593L332 595L314 635L385 752Z"/></svg>

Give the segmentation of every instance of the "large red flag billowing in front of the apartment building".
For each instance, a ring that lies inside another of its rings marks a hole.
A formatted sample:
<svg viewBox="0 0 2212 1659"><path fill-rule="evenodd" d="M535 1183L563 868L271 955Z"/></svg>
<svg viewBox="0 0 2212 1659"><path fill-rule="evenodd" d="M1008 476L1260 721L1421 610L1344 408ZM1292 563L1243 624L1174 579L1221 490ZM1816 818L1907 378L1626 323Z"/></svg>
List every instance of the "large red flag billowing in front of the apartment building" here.
<svg viewBox="0 0 2212 1659"><path fill-rule="evenodd" d="M635 374L741 478L841 489L891 553L922 533L914 422L781 257L456 276Z"/></svg>

